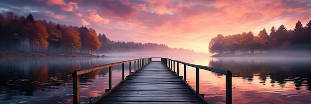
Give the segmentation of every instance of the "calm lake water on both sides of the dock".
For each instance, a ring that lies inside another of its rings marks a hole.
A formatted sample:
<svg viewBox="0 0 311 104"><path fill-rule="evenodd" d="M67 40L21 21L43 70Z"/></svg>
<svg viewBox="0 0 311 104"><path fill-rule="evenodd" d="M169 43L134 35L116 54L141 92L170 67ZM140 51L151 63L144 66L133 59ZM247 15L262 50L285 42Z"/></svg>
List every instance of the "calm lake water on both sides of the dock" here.
<svg viewBox="0 0 311 104"><path fill-rule="evenodd" d="M72 104L72 72L120 58L1 58L0 104ZM172 59L229 69L233 73L233 104L310 104L311 58L180 58ZM132 71L134 70L132 62ZM113 67L113 85L122 66ZM125 75L129 66L125 64ZM183 76L183 65L180 64ZM81 103L104 94L107 68L80 76ZM225 103L225 75L200 70L200 94L212 104ZM195 70L187 67L187 82L195 88Z"/></svg>

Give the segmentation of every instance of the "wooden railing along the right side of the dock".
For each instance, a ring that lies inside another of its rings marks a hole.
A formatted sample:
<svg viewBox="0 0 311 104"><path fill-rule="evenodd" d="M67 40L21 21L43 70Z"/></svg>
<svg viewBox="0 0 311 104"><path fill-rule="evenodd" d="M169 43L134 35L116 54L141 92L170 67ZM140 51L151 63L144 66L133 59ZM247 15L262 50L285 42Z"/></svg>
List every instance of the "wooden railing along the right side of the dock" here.
<svg viewBox="0 0 311 104"><path fill-rule="evenodd" d="M197 94L200 93L200 69L225 74L226 75L226 104L232 104L232 73L230 70L226 69L219 69L219 68L213 68L208 66L202 66L202 65L195 65L190 64L178 60L172 60L169 58L161 58L161 62L166 65L169 69L171 69L173 72L175 72L179 76L179 63L184 65L184 81L187 81L187 69L186 66L191 66L196 68L196 90L195 92ZM175 62L177 62L177 72L175 71ZM194 89L193 89L194 90Z"/></svg>

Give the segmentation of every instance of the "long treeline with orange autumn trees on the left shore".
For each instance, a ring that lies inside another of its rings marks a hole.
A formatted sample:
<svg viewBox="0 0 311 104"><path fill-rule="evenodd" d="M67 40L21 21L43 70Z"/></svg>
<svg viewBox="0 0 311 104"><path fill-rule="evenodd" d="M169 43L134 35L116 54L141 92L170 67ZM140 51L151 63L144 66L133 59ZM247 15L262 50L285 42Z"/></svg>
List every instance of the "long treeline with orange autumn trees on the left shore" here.
<svg viewBox="0 0 311 104"><path fill-rule="evenodd" d="M32 14L26 18L14 12L0 14L0 51L25 52L108 52L139 50L176 50L194 52L186 49L171 49L163 44L114 42L105 34L92 28L67 26L46 20L35 20Z"/></svg>

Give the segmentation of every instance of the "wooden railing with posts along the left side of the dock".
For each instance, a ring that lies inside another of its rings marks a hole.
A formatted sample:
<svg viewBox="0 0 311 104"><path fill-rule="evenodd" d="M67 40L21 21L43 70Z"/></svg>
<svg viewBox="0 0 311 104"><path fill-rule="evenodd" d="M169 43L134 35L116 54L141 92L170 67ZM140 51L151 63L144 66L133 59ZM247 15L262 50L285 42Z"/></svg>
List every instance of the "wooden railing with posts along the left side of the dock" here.
<svg viewBox="0 0 311 104"><path fill-rule="evenodd" d="M82 74L86 74L98 69L106 68L109 67L109 90L112 89L112 66L115 65L120 65L122 64L122 81L124 81L124 63L129 62L129 70L131 74L131 62L134 61L134 70L135 72L138 69L141 69L145 65L149 64L151 62L151 57L148 58L139 58L139 59L133 59L133 60L127 60L127 61L122 61L122 62L116 62L116 63L110 63L110 64L104 64L104 65L99 65L87 69L81 69L81 70L76 70L72 75L73 75L73 90L74 90L74 104L80 104L80 95L79 95L79 85L80 85L80 78L79 76ZM137 70L136 70L136 61L137 61ZM121 82L122 82L121 81Z"/></svg>

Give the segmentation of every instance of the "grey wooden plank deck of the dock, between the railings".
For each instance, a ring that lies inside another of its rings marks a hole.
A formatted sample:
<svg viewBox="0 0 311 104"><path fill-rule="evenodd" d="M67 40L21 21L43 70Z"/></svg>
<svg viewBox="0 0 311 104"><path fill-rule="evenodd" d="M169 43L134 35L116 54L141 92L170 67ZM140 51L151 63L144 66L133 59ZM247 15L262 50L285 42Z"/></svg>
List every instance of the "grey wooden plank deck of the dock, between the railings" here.
<svg viewBox="0 0 311 104"><path fill-rule="evenodd" d="M206 104L162 62L151 62L127 77L97 104Z"/></svg>

